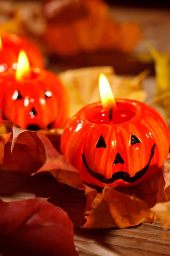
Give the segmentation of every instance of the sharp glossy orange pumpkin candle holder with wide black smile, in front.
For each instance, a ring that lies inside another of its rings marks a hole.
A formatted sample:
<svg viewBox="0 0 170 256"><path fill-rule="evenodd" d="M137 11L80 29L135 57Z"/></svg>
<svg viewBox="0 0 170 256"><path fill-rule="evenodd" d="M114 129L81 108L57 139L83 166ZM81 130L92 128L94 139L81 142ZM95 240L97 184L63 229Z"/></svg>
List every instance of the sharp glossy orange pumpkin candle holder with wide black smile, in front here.
<svg viewBox="0 0 170 256"><path fill-rule="evenodd" d="M158 172L169 151L166 122L142 102L117 99L111 113L101 103L80 110L65 126L61 151L82 181L133 186Z"/></svg>

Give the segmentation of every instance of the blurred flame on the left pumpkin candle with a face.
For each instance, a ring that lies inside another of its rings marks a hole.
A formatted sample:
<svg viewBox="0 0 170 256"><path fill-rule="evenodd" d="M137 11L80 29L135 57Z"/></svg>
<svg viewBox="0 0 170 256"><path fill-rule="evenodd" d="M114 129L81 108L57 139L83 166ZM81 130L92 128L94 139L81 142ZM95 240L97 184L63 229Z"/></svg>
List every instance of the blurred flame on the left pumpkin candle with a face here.
<svg viewBox="0 0 170 256"><path fill-rule="evenodd" d="M30 64L26 55L26 52L23 50L20 51L17 63L16 79L21 80L23 77L30 76Z"/></svg>

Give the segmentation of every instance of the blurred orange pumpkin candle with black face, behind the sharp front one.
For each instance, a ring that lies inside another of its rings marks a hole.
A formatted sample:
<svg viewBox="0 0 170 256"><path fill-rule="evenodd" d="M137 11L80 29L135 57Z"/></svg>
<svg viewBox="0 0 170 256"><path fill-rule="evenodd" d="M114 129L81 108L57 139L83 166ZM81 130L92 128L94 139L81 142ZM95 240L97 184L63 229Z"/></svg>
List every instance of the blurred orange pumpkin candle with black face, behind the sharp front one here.
<svg viewBox="0 0 170 256"><path fill-rule="evenodd" d="M2 109L5 119L20 128L62 128L68 120L69 97L59 79L47 70L32 68L31 77L16 81L15 71L0 74ZM45 96L51 94L50 97ZM19 99L15 99L20 93ZM32 112L34 108L35 113Z"/></svg>

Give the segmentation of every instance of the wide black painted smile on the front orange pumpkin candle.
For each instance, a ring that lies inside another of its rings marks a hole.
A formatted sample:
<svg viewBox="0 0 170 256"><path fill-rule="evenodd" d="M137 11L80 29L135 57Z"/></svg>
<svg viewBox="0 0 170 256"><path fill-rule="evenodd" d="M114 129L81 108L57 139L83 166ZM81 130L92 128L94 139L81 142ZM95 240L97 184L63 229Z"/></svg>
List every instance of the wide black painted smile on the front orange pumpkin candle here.
<svg viewBox="0 0 170 256"><path fill-rule="evenodd" d="M150 159L149 159L147 165L139 172L136 172L136 174L133 177L130 177L129 173L127 173L127 172L115 172L115 173L113 173L113 175L110 179L106 179L106 177L104 175L94 172L88 166L84 154L82 154L82 159L83 159L86 169L91 174L91 176L93 176L96 180L99 180L102 183L110 184L110 183L113 183L115 180L124 180L128 183L133 183L133 182L139 180L140 178L142 178L142 176L147 172L147 170L150 166L150 161L152 160L152 157L155 154L155 147L156 147L156 144L154 144L151 148Z"/></svg>

